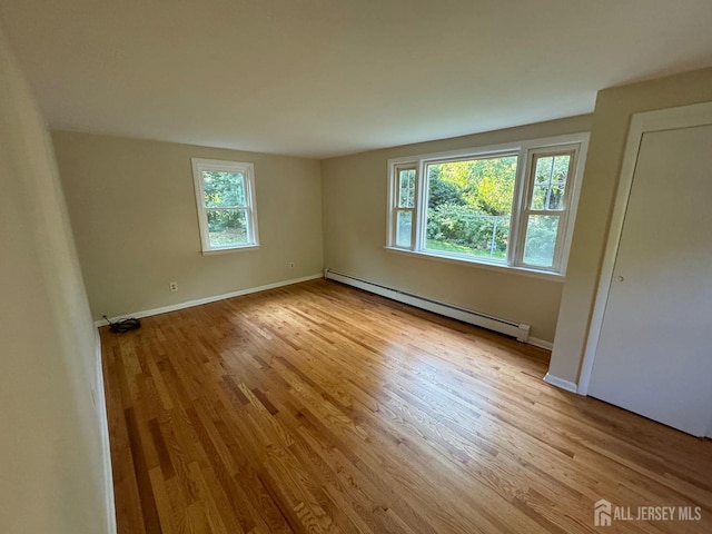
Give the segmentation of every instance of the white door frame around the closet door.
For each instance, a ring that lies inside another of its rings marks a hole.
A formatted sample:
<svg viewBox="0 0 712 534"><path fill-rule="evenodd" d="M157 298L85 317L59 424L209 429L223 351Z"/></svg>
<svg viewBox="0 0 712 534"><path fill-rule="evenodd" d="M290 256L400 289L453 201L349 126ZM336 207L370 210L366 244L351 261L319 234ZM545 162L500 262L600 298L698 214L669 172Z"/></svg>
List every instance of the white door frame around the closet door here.
<svg viewBox="0 0 712 534"><path fill-rule="evenodd" d="M611 214L609 237L606 239L603 264L599 275L596 296L591 315L591 326L586 339L581 373L576 392L580 395L589 394L589 383L599 349L599 338L603 327L603 315L609 304L609 293L613 280L613 269L617 258L621 235L625 222L625 211L633 186L633 176L637 164L643 135L653 131L674 130L680 128L693 128L695 126L712 125L712 102L694 103L678 108L668 108L657 111L644 111L635 113L631 118L631 127L623 152L623 164L615 194L615 202ZM712 434L712 426L710 428Z"/></svg>

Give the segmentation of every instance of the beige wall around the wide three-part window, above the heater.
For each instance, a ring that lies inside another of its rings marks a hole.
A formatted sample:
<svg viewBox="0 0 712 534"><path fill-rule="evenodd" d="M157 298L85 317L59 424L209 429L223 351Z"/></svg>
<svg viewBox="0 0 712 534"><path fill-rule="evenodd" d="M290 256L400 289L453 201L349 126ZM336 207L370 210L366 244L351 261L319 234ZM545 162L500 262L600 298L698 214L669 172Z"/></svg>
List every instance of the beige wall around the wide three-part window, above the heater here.
<svg viewBox="0 0 712 534"><path fill-rule="evenodd" d="M553 340L561 281L384 250L387 160L589 131L590 128L591 117L581 116L324 160L322 185L325 267L399 290L530 324L532 336Z"/></svg>

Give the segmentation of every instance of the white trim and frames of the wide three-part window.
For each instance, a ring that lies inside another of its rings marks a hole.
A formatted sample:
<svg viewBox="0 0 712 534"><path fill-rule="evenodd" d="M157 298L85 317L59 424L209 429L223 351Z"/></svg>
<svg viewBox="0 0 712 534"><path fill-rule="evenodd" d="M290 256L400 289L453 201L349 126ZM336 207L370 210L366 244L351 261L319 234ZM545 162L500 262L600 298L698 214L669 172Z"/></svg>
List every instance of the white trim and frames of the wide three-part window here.
<svg viewBox="0 0 712 534"><path fill-rule="evenodd" d="M428 259L445 260L461 265L471 265L473 267L483 267L495 270L506 270L513 274L524 276L534 276L536 278L563 279L566 274L568 261L568 253L571 250L571 239L573 235L573 226L576 220L576 211L578 206L578 197L581 194L581 184L583 178L583 169L586 161L589 150L589 132L570 134L564 136L546 137L540 139L527 139L523 141L514 141L501 145L490 145L483 147L473 147L458 150L448 150L443 152L431 152L414 156L404 156L388 159L388 207L387 207L387 228L386 228L386 246L385 249L396 253L405 253L407 255L417 255ZM530 190L528 175L531 165L535 155L546 151L564 151L567 148L576 150L573 175L570 177L572 188L567 191L568 206L562 214L563 236L561 237L561 246L554 259L554 266L551 268L531 266L523 263L524 256L524 238L526 235L525 212L528 209L525 206ZM516 187L514 191L514 200L512 204L512 221L511 228L516 231L510 233L510 246L507 247L506 263L488 261L486 258L469 258L457 254L433 253L423 247L425 240L427 206L423 191L426 187L425 167L428 164L438 160L462 159L462 158L481 158L488 156L518 156L516 171ZM396 221L395 221L395 204L398 195L397 170L404 167L413 166L416 169L416 219L414 220L415 238L411 247L399 247L396 245ZM517 260L517 258L521 258Z"/></svg>

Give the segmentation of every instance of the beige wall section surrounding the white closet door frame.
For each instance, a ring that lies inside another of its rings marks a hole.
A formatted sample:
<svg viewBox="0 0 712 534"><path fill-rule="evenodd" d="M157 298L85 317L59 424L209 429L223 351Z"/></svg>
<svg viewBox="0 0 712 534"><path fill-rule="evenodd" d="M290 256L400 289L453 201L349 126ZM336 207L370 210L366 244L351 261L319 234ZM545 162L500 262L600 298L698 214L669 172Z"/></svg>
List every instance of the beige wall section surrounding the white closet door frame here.
<svg viewBox="0 0 712 534"><path fill-rule="evenodd" d="M552 375L574 383L578 379L631 116L704 101L712 101L712 69L599 93L550 367ZM704 194L711 195L712 186Z"/></svg>

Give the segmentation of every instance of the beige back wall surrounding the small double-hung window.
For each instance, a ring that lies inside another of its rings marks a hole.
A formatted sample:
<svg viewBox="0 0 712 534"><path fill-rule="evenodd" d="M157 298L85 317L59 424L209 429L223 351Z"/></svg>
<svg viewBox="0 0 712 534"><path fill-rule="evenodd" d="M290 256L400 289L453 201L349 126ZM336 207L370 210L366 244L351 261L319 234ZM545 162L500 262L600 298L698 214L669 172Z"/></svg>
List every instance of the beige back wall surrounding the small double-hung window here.
<svg viewBox="0 0 712 534"><path fill-rule="evenodd" d="M316 160L63 131L52 138L95 319L322 271ZM191 157L255 164L259 250L200 254Z"/></svg>

